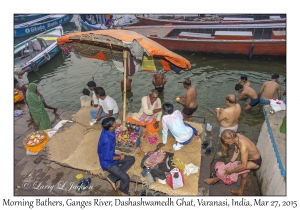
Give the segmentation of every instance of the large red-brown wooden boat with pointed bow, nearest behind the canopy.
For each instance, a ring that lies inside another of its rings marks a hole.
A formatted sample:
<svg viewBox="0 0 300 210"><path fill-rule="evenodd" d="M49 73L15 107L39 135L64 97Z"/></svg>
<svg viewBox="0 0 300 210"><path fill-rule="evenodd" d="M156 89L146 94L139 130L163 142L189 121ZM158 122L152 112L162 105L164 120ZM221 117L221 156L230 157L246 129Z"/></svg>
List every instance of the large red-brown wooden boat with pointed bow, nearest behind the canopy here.
<svg viewBox="0 0 300 210"><path fill-rule="evenodd" d="M140 33L172 51L286 55L286 24L133 26Z"/></svg>

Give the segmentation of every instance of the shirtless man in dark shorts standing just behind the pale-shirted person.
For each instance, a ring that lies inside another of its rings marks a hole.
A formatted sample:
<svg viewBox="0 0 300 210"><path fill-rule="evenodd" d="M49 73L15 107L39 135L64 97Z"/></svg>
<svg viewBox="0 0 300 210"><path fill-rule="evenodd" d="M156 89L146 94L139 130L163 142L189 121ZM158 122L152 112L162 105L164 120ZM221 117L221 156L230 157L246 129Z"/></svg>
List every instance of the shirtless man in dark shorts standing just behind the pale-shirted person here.
<svg viewBox="0 0 300 210"><path fill-rule="evenodd" d="M197 90L192 86L192 82L189 79L183 80L183 87L186 89L186 92L184 95L178 96L179 100L176 99L176 102L183 106L182 115L184 120L192 121L191 116L198 108Z"/></svg>

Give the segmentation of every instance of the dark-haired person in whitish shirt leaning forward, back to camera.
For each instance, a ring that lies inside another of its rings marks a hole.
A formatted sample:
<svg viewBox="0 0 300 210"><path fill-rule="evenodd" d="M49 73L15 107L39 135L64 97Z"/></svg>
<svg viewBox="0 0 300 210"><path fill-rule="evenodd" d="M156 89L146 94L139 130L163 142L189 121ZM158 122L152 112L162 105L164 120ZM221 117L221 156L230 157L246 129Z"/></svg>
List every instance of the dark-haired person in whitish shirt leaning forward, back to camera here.
<svg viewBox="0 0 300 210"><path fill-rule="evenodd" d="M162 105L163 113L162 118L162 142L167 143L168 130L170 130L171 136L174 137L177 144L173 145L174 150L180 150L184 145L190 143L194 136L199 137L198 131L191 125L183 122L183 116L180 111L173 112L174 107L170 103L164 103Z"/></svg>

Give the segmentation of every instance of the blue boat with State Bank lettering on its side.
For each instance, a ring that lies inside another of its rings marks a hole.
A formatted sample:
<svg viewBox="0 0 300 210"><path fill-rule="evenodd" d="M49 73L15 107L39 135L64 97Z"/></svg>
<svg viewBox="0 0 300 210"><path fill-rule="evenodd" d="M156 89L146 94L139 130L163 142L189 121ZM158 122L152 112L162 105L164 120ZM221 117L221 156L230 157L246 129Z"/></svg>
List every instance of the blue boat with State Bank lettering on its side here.
<svg viewBox="0 0 300 210"><path fill-rule="evenodd" d="M73 18L73 15L46 15L44 17L15 25L14 37L28 36L31 34L37 34L45 30L54 28L59 25L68 23Z"/></svg>

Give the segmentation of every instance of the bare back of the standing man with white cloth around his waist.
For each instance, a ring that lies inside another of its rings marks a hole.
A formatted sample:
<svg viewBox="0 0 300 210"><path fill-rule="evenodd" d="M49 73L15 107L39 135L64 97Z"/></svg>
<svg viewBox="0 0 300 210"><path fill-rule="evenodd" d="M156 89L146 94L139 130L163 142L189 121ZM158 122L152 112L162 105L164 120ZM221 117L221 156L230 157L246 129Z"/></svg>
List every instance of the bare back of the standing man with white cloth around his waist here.
<svg viewBox="0 0 300 210"><path fill-rule="evenodd" d="M220 125L224 128L236 126L238 124L241 112L242 108L239 104L235 104L234 106L223 109L222 113L220 114Z"/></svg>

